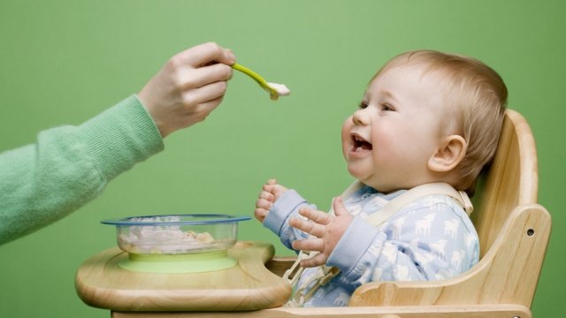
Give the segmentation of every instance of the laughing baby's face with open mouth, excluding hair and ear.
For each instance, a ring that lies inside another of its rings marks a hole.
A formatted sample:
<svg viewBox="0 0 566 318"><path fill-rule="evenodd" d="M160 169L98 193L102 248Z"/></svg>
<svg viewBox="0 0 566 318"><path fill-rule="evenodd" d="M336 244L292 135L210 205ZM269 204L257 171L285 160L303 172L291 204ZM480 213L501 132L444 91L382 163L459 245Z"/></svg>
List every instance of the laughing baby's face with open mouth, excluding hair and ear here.
<svg viewBox="0 0 566 318"><path fill-rule="evenodd" d="M435 74L400 65L371 81L360 109L342 126L352 176L381 192L431 182L427 163L440 148L446 115Z"/></svg>

